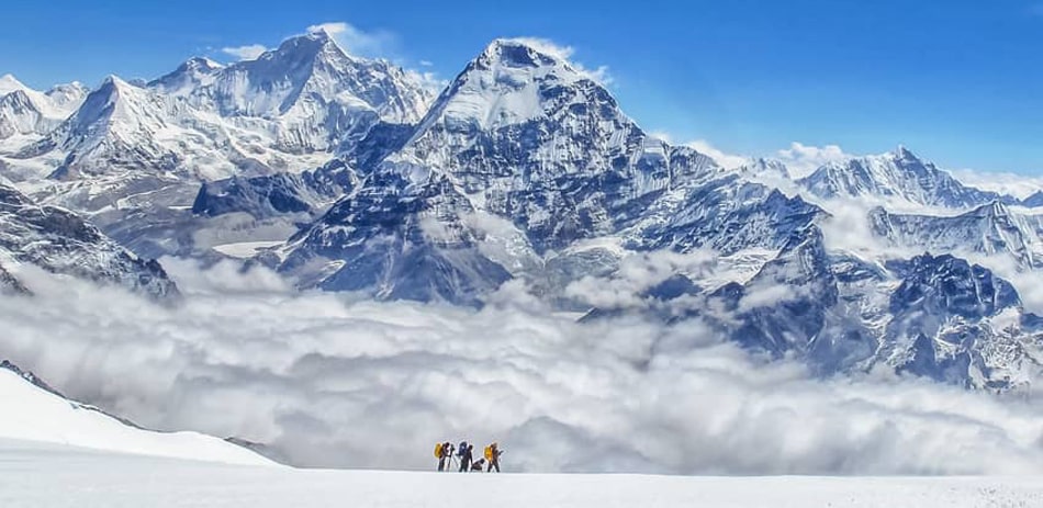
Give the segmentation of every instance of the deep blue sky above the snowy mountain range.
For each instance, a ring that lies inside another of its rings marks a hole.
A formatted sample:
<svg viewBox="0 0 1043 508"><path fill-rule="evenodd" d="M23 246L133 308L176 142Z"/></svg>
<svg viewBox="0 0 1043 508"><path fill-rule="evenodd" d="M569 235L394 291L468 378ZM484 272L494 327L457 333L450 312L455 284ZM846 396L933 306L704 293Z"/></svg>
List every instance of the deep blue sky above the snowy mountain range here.
<svg viewBox="0 0 1043 508"><path fill-rule="evenodd" d="M221 48L332 21L441 78L494 37L539 36L608 66L624 109L675 140L902 143L945 167L1043 173L1043 0L12 0L2 18L0 74L36 88L229 60Z"/></svg>

